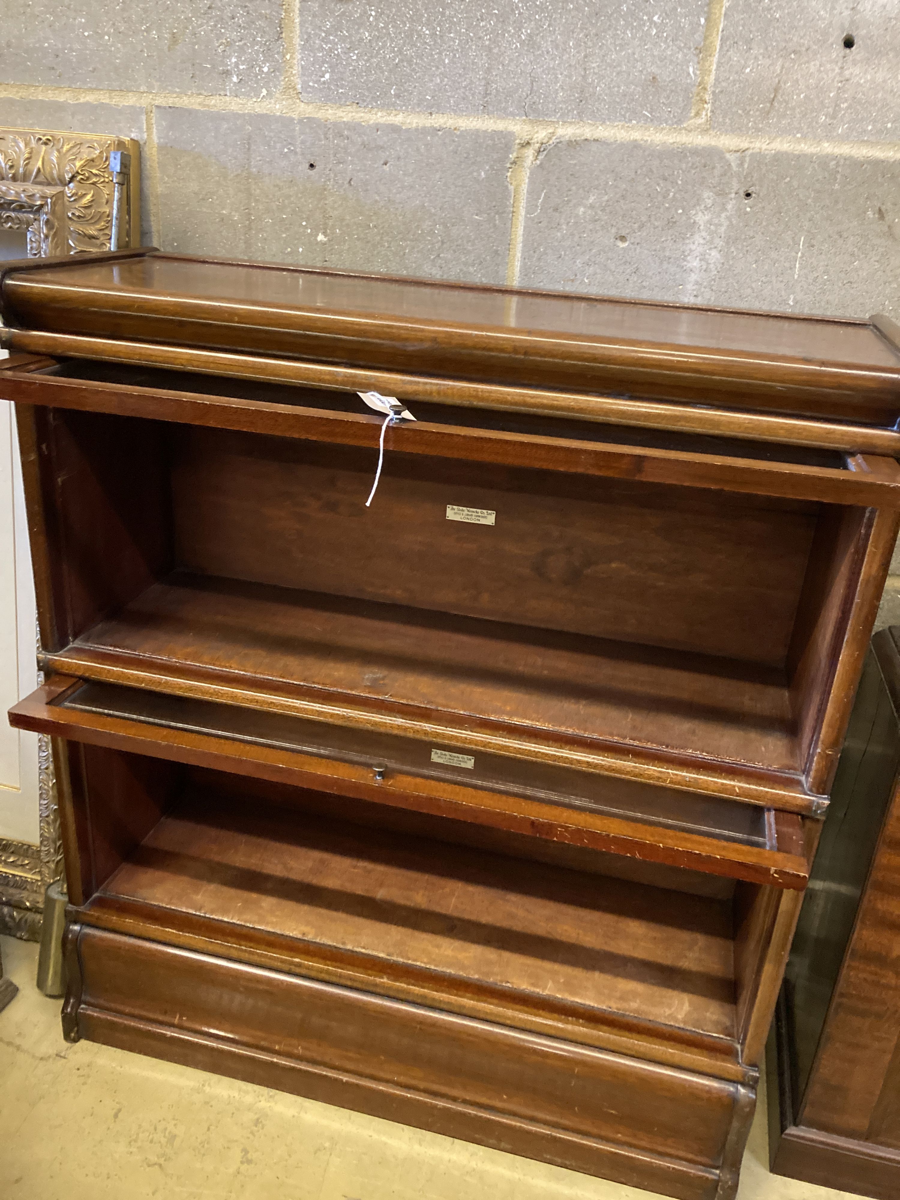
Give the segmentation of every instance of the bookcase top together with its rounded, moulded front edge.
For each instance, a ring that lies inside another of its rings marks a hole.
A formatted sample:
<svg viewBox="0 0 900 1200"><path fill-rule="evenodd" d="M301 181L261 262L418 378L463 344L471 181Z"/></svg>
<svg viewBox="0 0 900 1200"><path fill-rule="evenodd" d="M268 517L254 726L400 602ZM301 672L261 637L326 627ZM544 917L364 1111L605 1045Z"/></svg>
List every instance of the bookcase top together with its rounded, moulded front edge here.
<svg viewBox="0 0 900 1200"><path fill-rule="evenodd" d="M139 251L7 269L6 323L422 376L893 427L887 323L738 312ZM13 338L14 342L14 338ZM50 350L50 353L53 353Z"/></svg>

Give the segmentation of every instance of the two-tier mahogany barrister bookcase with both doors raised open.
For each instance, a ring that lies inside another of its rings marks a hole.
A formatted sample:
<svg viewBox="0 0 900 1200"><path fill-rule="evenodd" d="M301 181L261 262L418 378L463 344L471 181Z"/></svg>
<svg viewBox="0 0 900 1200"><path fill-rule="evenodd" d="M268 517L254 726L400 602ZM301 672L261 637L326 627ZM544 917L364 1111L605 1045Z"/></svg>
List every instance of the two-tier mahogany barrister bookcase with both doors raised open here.
<svg viewBox="0 0 900 1200"><path fill-rule="evenodd" d="M889 324L148 250L0 304L66 1036L732 1198L898 530Z"/></svg>

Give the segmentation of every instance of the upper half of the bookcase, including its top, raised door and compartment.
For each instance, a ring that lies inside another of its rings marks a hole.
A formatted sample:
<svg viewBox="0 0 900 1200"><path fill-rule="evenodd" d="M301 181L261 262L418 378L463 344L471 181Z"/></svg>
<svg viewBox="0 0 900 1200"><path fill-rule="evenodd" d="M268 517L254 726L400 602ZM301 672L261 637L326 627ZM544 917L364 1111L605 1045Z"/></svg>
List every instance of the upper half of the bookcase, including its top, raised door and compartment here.
<svg viewBox="0 0 900 1200"><path fill-rule="evenodd" d="M5 384L59 480L50 665L827 793L900 488L876 325L156 252L1 289L55 356ZM370 388L418 420L366 508Z"/></svg>

